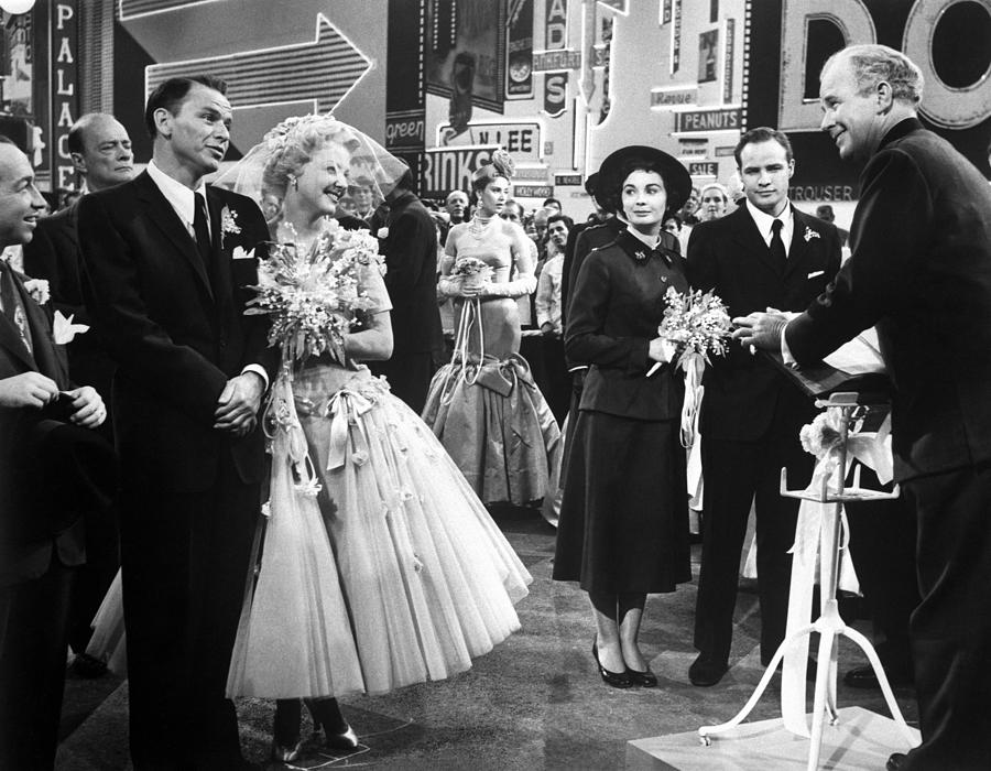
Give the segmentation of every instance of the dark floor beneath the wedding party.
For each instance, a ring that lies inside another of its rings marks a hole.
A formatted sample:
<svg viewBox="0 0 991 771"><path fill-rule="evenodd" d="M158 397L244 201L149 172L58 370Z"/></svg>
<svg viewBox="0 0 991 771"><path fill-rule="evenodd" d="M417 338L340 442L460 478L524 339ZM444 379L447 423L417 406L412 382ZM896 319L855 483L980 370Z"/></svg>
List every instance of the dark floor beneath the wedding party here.
<svg viewBox="0 0 991 771"><path fill-rule="evenodd" d="M722 723L750 697L763 672L756 650L756 596L745 585L737 602L732 669L721 683L711 688L688 683L695 658L695 585L687 584L674 594L651 596L644 613L641 647L660 687L616 691L595 671L593 626L584 593L551 580L554 530L533 510L502 511L497 521L534 576L531 595L519 605L522 631L449 681L346 699L346 716L362 748L335 757L311 745L297 768L618 769L624 764L628 740ZM697 546L693 561L697 576ZM854 626L869 631L862 621ZM841 640L841 673L864 661L852 643ZM749 719L780 716L778 686L776 676ZM908 723L917 726L912 691L896 689L895 695ZM838 706L887 715L880 692L848 688L841 682ZM244 754L263 762L273 705L246 699L238 708ZM68 681L63 735L59 771L129 769L127 684L112 676ZM170 739L182 740L163 737Z"/></svg>

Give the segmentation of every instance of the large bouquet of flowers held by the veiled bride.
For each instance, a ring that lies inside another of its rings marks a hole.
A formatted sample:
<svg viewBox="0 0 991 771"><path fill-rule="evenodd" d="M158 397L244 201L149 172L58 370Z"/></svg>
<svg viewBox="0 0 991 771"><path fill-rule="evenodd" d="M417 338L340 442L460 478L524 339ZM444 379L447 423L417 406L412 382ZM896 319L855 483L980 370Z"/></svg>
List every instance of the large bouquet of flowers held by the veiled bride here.
<svg viewBox="0 0 991 771"><path fill-rule="evenodd" d="M344 363L344 334L371 304L358 291L356 268L371 263L380 264L375 238L331 219L305 252L288 239L269 245L258 284L249 287L257 294L244 313L272 317L269 345L283 347L283 361L329 352Z"/></svg>

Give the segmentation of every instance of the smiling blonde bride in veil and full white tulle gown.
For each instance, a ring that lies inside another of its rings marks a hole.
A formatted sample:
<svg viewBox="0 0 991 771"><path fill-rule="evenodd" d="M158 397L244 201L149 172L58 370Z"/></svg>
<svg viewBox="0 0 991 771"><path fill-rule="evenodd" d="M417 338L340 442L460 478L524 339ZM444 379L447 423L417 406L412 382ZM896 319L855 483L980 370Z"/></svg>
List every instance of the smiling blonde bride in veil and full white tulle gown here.
<svg viewBox="0 0 991 771"><path fill-rule="evenodd" d="M349 176L381 202L405 173L361 132L305 116L218 184L277 197L273 237L319 257L341 236L328 217ZM469 669L520 628L513 605L532 580L433 432L361 363L391 355L391 304L377 254L337 253L360 323L341 335L339 360L283 357L266 411L270 517L228 681L230 696L293 699L276 715L285 760L298 750L300 697L322 699L311 708L329 743L350 746L334 696Z"/></svg>

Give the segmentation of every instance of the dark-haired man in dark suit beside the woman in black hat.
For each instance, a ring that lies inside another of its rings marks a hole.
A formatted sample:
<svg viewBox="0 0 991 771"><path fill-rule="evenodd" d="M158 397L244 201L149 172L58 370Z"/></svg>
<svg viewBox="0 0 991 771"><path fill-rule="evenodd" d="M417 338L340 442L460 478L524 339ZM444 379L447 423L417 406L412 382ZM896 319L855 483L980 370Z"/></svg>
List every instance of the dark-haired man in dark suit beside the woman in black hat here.
<svg viewBox="0 0 991 771"><path fill-rule="evenodd" d="M695 226L688 242L688 281L714 291L734 316L769 307L798 311L839 270L836 228L788 202L795 170L780 131L756 128L740 138L737 166L747 203ZM704 191L705 197L705 191ZM812 400L763 357L737 346L706 369L699 416L705 479L703 554L695 609L699 654L688 677L715 685L729 667L740 552L755 502L761 662L784 639L798 502L778 493L781 468L792 487L808 482L813 456L798 432L815 416Z"/></svg>

